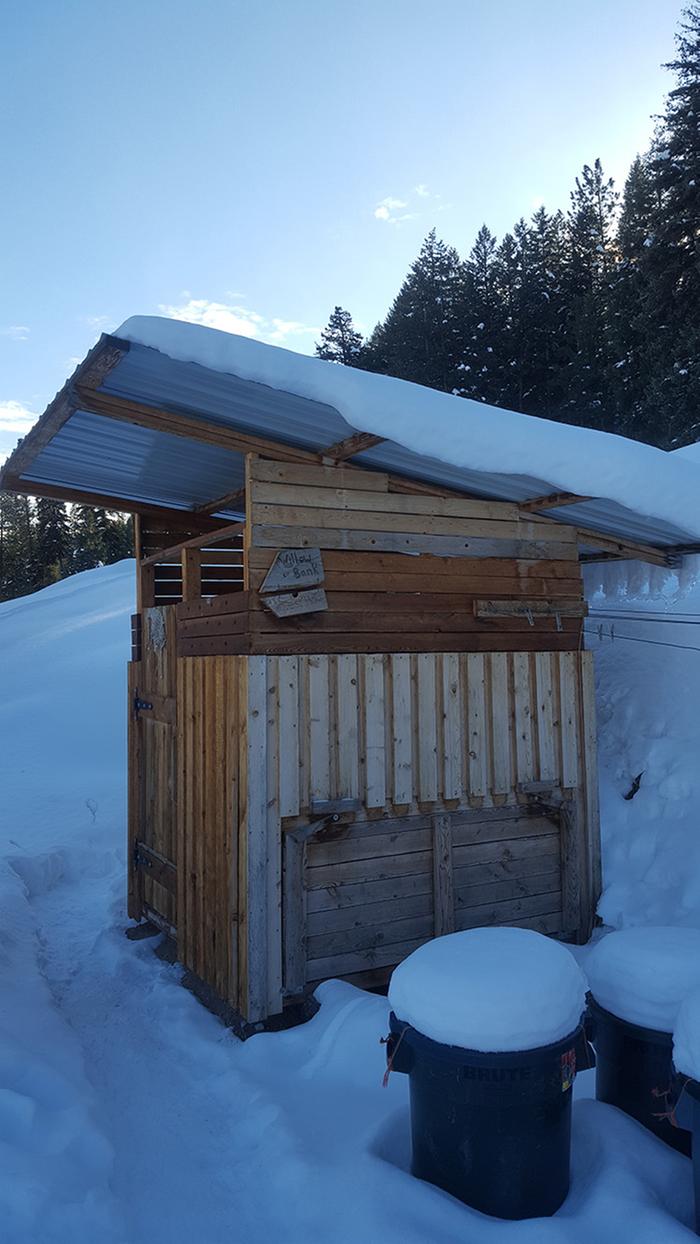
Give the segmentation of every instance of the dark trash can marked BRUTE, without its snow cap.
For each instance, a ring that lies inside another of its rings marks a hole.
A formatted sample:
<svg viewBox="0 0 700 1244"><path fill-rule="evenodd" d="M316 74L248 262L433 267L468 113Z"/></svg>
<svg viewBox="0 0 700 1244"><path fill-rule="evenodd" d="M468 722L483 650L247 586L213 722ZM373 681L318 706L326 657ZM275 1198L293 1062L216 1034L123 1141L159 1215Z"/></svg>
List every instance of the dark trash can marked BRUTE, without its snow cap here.
<svg viewBox="0 0 700 1244"><path fill-rule="evenodd" d="M496 1218L556 1213L569 1186L578 1028L537 1050L441 1045L392 1013L392 1071L409 1077L413 1174Z"/></svg>

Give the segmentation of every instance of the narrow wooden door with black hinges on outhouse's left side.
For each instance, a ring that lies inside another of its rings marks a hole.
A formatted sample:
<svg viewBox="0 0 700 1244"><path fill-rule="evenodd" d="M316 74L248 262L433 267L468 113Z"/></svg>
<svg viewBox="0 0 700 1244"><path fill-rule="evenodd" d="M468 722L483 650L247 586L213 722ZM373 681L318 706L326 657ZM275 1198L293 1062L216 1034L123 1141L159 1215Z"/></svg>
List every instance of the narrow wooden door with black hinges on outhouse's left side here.
<svg viewBox="0 0 700 1244"><path fill-rule="evenodd" d="M177 653L172 608L143 613L129 664L128 914L177 928Z"/></svg>

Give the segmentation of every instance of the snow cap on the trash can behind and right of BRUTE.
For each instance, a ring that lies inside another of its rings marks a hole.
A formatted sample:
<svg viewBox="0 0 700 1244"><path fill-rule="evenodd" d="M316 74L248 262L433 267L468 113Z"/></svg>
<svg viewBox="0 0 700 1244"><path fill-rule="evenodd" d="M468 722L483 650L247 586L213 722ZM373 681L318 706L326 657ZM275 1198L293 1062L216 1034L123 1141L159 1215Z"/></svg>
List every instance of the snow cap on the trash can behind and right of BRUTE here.
<svg viewBox="0 0 700 1244"><path fill-rule="evenodd" d="M591 993L628 1024L673 1033L685 995L700 985L700 929L608 933L586 963Z"/></svg>

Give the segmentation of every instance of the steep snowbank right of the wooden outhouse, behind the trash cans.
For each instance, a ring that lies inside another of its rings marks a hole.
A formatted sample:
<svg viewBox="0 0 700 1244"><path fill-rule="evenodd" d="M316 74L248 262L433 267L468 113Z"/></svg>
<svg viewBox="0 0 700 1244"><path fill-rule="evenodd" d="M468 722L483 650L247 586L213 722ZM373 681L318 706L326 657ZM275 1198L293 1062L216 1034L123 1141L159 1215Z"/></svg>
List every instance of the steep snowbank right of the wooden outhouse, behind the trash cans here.
<svg viewBox="0 0 700 1244"><path fill-rule="evenodd" d="M700 928L699 566L699 557L685 557L678 571L639 562L586 570L603 841L598 911L615 928Z"/></svg>

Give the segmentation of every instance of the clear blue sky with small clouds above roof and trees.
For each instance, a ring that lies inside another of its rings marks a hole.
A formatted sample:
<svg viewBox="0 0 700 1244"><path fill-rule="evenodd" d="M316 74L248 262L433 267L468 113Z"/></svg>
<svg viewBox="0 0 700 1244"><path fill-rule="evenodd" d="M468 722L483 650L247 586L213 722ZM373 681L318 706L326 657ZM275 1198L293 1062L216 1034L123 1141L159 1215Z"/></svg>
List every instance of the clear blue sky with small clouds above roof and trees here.
<svg viewBox="0 0 700 1244"><path fill-rule="evenodd" d="M0 458L102 330L178 315L312 351L428 230L465 254L671 85L681 0L25 0L0 42Z"/></svg>

